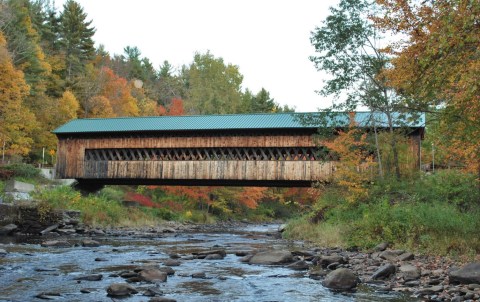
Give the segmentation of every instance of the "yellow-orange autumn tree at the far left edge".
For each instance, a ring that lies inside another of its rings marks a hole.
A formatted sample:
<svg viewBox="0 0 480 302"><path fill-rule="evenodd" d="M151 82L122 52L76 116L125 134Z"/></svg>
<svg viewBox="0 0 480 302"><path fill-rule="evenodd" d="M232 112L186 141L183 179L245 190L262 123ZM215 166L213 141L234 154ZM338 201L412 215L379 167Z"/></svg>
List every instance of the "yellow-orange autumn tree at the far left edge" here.
<svg viewBox="0 0 480 302"><path fill-rule="evenodd" d="M33 143L35 116L23 104L29 87L16 70L0 31L0 139L8 142L8 154L26 155Z"/></svg>

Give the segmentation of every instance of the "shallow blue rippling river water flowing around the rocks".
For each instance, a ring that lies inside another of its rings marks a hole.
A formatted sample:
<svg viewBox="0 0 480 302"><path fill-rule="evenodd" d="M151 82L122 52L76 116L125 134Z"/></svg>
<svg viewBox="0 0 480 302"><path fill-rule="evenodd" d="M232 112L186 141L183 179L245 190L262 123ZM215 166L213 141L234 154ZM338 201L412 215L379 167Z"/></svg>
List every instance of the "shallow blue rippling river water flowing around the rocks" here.
<svg viewBox="0 0 480 302"><path fill-rule="evenodd" d="M158 285L165 297L177 301L414 301L411 298L377 293L360 286L354 293L333 293L321 281L308 278L308 273L280 266L249 265L239 261L236 251L266 248L301 250L301 242L288 242L272 236L275 225L244 227L209 232L96 236L100 247L45 248L45 238L29 238L24 242L3 242L0 248L9 253L0 258L0 301L42 301L35 296L42 292L58 301L148 301L142 289L152 284L132 283L139 293L125 299L107 297L106 288L123 283L117 274L146 263L162 261L178 254L180 266L165 283ZM58 238L55 238L58 239ZM82 238L66 238L78 242ZM13 240L13 239L12 239ZM19 240L17 239L17 242ZM27 241L28 243L25 243ZM221 260L190 259L192 252L225 249ZM104 261L95 261L103 258ZM190 259L190 260L189 260ZM192 278L204 272L205 279ZM102 274L100 281L77 281L75 277ZM81 293L88 288L89 293Z"/></svg>

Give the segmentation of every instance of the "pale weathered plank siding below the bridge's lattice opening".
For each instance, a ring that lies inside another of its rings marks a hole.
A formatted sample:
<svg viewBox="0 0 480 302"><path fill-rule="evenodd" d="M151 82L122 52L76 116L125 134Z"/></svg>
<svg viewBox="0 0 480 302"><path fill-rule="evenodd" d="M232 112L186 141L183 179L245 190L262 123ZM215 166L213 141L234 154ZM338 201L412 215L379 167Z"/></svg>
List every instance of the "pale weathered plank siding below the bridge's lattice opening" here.
<svg viewBox="0 0 480 302"><path fill-rule="evenodd" d="M96 161L86 162L89 179L320 180L333 163L320 161Z"/></svg>

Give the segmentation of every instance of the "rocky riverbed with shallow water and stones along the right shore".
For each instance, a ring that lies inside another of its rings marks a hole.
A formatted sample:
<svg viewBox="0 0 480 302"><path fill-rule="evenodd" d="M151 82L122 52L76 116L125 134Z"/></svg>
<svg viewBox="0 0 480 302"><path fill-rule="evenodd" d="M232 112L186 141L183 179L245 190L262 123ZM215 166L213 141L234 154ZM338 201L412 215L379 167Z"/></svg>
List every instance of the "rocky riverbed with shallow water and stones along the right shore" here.
<svg viewBox="0 0 480 302"><path fill-rule="evenodd" d="M0 237L0 301L477 301L480 264L307 248L276 225L166 224Z"/></svg>

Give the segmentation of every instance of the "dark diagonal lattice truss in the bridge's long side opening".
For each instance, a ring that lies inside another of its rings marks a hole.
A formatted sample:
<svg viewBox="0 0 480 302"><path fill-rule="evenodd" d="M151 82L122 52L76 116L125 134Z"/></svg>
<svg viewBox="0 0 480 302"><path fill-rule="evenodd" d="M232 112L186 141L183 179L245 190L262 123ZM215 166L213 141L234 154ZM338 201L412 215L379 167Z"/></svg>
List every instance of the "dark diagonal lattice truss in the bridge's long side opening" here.
<svg viewBox="0 0 480 302"><path fill-rule="evenodd" d="M315 147L86 149L86 161L329 160Z"/></svg>

